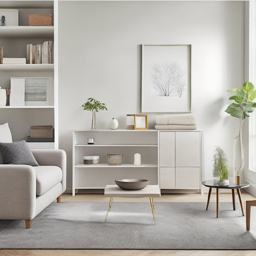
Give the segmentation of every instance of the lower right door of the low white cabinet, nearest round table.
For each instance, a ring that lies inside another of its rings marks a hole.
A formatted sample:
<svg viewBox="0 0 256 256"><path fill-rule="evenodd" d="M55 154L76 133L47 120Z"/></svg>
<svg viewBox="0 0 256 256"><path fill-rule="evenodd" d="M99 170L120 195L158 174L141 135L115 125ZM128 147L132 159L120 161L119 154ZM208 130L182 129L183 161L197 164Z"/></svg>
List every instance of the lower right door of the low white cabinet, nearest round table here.
<svg viewBox="0 0 256 256"><path fill-rule="evenodd" d="M176 167L175 188L200 188L200 167Z"/></svg>

